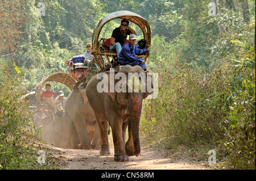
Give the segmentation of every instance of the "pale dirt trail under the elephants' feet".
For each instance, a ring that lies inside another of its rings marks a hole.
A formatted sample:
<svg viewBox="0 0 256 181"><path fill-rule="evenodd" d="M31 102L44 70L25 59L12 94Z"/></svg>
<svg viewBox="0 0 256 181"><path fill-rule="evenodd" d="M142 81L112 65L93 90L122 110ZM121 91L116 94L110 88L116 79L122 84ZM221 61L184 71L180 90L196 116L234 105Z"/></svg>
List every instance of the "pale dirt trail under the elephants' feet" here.
<svg viewBox="0 0 256 181"><path fill-rule="evenodd" d="M59 148L59 157L67 170L201 170L210 169L188 159L171 157L161 151L142 149L138 157L128 162L114 162L114 149L109 156L101 156L100 150L74 150Z"/></svg>

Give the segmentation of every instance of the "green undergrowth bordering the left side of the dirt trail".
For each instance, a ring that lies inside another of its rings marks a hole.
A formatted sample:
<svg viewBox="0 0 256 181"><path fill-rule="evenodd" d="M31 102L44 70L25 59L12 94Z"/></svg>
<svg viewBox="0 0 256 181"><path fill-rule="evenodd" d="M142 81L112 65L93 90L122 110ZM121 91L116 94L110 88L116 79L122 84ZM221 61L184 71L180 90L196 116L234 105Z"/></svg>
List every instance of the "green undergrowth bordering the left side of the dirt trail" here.
<svg viewBox="0 0 256 181"><path fill-rule="evenodd" d="M28 103L20 99L20 74L15 66L14 71L4 69L0 77L0 170L59 169L51 151L46 152L46 164L38 162L38 151L48 148L42 148L30 120L32 113L27 111Z"/></svg>

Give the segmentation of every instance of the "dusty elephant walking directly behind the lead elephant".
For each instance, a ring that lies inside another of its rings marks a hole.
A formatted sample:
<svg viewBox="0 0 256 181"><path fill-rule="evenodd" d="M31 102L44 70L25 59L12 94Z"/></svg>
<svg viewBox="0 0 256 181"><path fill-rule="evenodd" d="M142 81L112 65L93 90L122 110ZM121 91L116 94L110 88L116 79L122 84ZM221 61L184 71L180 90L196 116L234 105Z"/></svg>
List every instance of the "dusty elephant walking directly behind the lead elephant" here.
<svg viewBox="0 0 256 181"><path fill-rule="evenodd" d="M96 117L90 107L88 99L83 98L81 92L74 89L65 103L65 123L73 149L100 149L100 131ZM79 145L80 138L81 145Z"/></svg>

